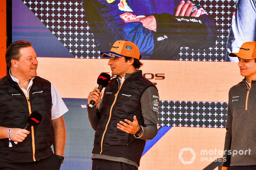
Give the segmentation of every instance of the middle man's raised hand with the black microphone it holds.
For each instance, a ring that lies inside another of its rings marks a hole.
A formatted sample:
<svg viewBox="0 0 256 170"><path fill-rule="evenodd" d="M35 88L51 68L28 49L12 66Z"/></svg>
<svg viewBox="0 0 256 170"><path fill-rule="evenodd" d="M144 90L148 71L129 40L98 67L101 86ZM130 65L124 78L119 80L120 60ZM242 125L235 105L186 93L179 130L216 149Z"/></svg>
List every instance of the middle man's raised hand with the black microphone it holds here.
<svg viewBox="0 0 256 170"><path fill-rule="evenodd" d="M95 104L95 101L100 100L99 97L101 97L100 92L102 91L103 87L107 87L110 82L110 75L108 73L101 73L100 76L97 79L97 84L99 85L98 89L99 92L97 92L97 88L95 87L93 92L90 92L88 96L88 107L92 108ZM91 99L91 100L90 100ZM98 101L99 102L99 101Z"/></svg>

